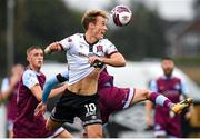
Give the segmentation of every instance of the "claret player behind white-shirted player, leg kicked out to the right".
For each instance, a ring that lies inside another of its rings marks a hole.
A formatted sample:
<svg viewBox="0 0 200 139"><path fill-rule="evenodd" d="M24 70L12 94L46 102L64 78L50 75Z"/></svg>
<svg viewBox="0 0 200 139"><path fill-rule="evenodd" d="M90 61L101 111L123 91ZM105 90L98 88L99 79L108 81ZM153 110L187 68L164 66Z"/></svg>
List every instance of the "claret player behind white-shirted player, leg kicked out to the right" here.
<svg viewBox="0 0 200 139"><path fill-rule="evenodd" d="M47 81L43 89L42 102L46 103L48 96L54 85L68 81L69 73L64 71L58 73L56 77L52 77ZM64 88L62 88L64 91ZM61 89L59 90L61 91ZM113 85L113 77L107 72L107 69L99 76L98 80L98 95L99 95L99 107L101 111L102 122L107 123L109 116L118 110L128 108L137 102L150 100L157 106L163 107L168 110L173 111L174 113L181 112L182 109L188 108L191 105L191 100L187 99L180 103L173 103L171 100L166 98L159 92L153 92L146 89L137 88L119 88ZM189 100L189 101L188 101ZM41 105L40 103L40 105ZM36 111L42 113L46 109L42 109L39 105ZM176 110L173 110L176 108Z"/></svg>

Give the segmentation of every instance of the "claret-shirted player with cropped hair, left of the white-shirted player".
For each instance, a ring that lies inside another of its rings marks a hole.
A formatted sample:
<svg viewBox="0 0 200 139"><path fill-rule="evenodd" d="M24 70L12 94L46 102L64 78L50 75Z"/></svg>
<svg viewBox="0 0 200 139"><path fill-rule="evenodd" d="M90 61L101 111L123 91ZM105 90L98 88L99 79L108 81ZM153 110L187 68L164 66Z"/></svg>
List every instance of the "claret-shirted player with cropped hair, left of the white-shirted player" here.
<svg viewBox="0 0 200 139"><path fill-rule="evenodd" d="M34 109L41 101L46 77L40 72L43 63L43 51L39 47L27 50L28 69L23 72L18 86L18 112L13 125L14 138L72 137L63 128L54 131L46 129L43 116L34 116ZM52 93L51 97L57 93Z"/></svg>

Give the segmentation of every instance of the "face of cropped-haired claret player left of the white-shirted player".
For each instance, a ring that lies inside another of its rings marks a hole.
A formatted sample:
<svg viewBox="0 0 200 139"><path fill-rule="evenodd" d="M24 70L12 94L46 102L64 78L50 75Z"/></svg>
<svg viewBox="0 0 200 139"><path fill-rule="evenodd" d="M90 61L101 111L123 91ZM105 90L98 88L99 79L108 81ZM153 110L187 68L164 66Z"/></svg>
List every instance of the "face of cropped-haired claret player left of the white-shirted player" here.
<svg viewBox="0 0 200 139"><path fill-rule="evenodd" d="M41 49L33 49L28 54L28 61L34 68L41 68L43 63L43 51Z"/></svg>

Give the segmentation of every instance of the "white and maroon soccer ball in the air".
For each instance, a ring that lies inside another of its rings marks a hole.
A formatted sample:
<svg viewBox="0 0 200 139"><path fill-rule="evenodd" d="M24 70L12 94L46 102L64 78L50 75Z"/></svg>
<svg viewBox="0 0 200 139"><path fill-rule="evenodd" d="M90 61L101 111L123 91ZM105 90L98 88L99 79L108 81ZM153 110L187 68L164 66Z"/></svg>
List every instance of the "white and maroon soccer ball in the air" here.
<svg viewBox="0 0 200 139"><path fill-rule="evenodd" d="M132 12L126 6L117 6L111 10L111 16L116 26L122 27L129 24Z"/></svg>

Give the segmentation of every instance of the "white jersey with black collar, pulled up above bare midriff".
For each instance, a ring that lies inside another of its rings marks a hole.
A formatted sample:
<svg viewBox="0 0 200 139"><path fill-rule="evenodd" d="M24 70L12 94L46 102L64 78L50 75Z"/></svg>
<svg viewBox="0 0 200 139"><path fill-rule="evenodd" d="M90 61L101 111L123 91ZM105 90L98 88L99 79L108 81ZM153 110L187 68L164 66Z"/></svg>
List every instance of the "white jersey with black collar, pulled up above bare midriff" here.
<svg viewBox="0 0 200 139"><path fill-rule="evenodd" d="M88 43L83 33L76 33L59 42L66 51L69 71L68 85L73 85L90 72L93 67L89 63L90 56L108 57L117 52L117 48L108 39L101 39L96 43Z"/></svg>

